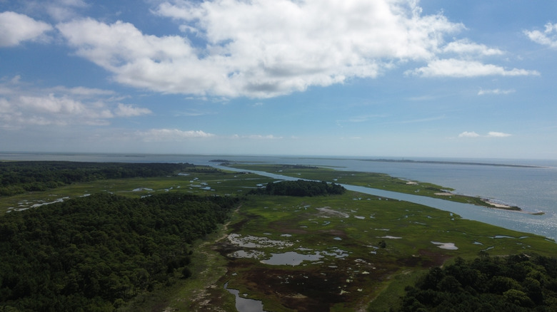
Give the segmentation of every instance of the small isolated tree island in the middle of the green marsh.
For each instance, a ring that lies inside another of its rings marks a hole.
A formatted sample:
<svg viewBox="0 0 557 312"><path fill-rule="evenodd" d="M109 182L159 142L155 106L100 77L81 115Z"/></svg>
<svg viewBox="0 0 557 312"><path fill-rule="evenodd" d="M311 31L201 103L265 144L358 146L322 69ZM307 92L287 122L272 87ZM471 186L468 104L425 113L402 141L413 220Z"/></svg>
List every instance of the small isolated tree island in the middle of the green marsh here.
<svg viewBox="0 0 557 312"><path fill-rule="evenodd" d="M253 189L250 194L266 194L279 196L323 196L329 194L343 194L346 189L339 184L328 184L321 181L282 181L268 183L266 187Z"/></svg>

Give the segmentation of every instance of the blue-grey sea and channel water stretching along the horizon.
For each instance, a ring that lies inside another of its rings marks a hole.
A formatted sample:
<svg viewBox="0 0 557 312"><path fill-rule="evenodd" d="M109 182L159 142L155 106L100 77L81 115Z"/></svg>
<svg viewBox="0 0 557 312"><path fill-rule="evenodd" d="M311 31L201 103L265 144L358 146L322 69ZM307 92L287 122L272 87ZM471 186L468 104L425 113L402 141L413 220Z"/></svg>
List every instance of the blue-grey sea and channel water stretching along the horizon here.
<svg viewBox="0 0 557 312"><path fill-rule="evenodd" d="M501 204L518 206L532 215L471 205L455 205L441 199L423 204L448 210L466 219L474 219L499 227L557 238L557 160L494 160L411 157L415 162L377 162L368 160L393 157L319 157L319 156L241 156L241 155L151 155L151 154L72 154L0 152L0 160L66 160L75 162L189 162L195 165L217 165L210 160L230 162L315 165L336 170L381 172L408 180L431 182L455 189L454 192L492 199ZM433 161L433 162L420 162ZM451 162L451 163L441 163ZM459 163L456 163L459 162ZM466 164L465 164L466 163ZM484 165L473 165L484 164ZM494 165L485 165L494 164ZM526 165L536 167L508 167ZM378 194L373 189L369 194ZM398 193L397 193L398 194ZM383 194L378 194L384 196ZM409 197L398 198L409 201ZM422 199L421 199L422 200ZM468 207L466 207L468 206ZM494 234L496 235L496 233Z"/></svg>

